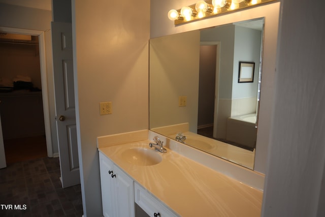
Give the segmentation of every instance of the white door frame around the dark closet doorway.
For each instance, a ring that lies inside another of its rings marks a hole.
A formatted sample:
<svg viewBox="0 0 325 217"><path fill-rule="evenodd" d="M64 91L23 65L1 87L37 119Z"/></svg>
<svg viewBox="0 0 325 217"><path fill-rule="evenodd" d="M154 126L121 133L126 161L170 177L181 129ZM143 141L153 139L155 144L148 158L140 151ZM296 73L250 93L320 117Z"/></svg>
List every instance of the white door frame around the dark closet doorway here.
<svg viewBox="0 0 325 217"><path fill-rule="evenodd" d="M53 157L53 148L51 140L51 123L50 123L50 109L47 89L47 71L46 71L46 52L45 52L45 36L44 31L23 29L23 28L11 28L0 27L1 32L33 35L39 37L39 49L40 49L40 66L41 66L41 83L42 83L42 99L43 99L43 112L44 112L44 127L46 137L46 149L47 156ZM1 124L1 123L0 123Z"/></svg>

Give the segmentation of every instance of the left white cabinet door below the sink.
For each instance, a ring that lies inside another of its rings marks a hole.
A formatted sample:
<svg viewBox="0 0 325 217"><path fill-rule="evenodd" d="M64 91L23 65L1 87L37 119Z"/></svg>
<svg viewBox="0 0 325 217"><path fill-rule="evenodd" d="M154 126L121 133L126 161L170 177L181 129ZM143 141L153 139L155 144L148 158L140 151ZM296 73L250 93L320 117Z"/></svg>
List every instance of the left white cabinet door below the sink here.
<svg viewBox="0 0 325 217"><path fill-rule="evenodd" d="M103 214L105 217L115 217L114 179L109 171L113 171L113 162L100 152Z"/></svg>

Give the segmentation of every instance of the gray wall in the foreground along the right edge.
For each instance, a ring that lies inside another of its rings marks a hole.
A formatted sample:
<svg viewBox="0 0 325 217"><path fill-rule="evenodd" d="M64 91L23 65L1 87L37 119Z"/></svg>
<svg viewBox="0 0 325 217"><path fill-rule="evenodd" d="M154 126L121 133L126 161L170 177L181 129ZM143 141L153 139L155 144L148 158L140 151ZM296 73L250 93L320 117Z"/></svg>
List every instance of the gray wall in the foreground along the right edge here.
<svg viewBox="0 0 325 217"><path fill-rule="evenodd" d="M262 216L325 213L325 16L312 3L281 1Z"/></svg>

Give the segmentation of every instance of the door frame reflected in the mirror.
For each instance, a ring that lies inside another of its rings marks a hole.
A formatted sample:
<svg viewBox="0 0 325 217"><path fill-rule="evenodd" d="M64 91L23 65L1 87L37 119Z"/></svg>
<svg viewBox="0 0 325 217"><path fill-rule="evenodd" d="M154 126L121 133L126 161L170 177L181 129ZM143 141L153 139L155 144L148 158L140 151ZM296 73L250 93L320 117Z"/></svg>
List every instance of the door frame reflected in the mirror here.
<svg viewBox="0 0 325 217"><path fill-rule="evenodd" d="M219 71L220 71L220 41L202 41L200 45L216 45L217 58L215 61L215 90L214 90L214 117L213 117L213 137L216 137L218 121L218 101L219 101Z"/></svg>

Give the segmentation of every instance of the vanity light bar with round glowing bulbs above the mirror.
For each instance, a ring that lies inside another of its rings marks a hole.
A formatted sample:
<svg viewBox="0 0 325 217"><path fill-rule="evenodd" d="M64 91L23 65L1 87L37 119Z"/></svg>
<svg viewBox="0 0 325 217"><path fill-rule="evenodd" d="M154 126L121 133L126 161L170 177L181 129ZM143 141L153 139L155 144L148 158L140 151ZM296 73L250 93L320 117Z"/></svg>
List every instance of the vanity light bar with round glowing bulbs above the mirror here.
<svg viewBox="0 0 325 217"><path fill-rule="evenodd" d="M277 0L206 0L194 5L184 6L179 10L172 9L168 18L174 20L175 25L195 21L207 17L233 12L249 7L275 2Z"/></svg>

